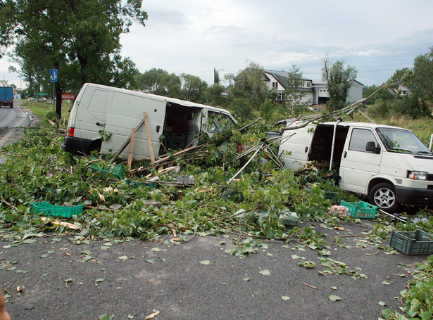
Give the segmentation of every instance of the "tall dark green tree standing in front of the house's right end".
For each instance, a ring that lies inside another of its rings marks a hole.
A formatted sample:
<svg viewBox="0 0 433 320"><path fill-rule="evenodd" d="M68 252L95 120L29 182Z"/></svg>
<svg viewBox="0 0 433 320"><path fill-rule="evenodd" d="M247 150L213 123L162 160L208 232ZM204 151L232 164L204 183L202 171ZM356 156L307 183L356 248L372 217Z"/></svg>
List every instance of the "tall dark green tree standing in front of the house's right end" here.
<svg viewBox="0 0 433 320"><path fill-rule="evenodd" d="M326 104L327 109L334 111L344 108L349 89L358 75L358 70L351 65L344 68L344 61L341 60L332 63L327 56L322 61L322 78L327 81L330 93L330 100Z"/></svg>

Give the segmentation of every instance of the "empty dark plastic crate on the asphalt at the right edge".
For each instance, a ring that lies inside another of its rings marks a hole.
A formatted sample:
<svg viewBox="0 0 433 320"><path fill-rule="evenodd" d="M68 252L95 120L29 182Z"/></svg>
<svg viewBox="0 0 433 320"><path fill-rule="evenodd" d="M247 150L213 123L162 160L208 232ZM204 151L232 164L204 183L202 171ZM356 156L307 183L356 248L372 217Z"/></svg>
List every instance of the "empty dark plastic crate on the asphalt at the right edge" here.
<svg viewBox="0 0 433 320"><path fill-rule="evenodd" d="M433 253L433 236L422 230L398 232L391 230L389 245L406 255L431 255Z"/></svg>

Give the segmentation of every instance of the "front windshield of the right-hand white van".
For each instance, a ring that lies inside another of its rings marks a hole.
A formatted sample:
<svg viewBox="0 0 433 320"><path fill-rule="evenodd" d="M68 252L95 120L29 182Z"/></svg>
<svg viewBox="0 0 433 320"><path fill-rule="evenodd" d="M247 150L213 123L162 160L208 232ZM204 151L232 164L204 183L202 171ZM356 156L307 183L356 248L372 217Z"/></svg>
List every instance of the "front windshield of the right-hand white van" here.
<svg viewBox="0 0 433 320"><path fill-rule="evenodd" d="M377 128L376 131L387 151L432 155L413 132L397 128Z"/></svg>

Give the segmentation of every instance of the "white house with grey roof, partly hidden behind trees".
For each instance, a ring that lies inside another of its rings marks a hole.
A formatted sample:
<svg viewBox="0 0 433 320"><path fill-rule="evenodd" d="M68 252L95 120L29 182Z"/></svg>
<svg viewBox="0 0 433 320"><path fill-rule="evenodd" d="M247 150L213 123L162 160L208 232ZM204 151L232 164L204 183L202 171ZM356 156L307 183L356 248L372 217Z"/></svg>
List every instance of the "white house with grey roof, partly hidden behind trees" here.
<svg viewBox="0 0 433 320"><path fill-rule="evenodd" d="M269 89L277 90L277 101L284 101L284 90L286 89L289 72L277 70L265 70L264 82ZM303 84L299 87L299 91L305 91L306 95L302 102L308 105L324 104L330 98L330 93L327 88L327 82L323 80L312 80L302 78ZM363 98L363 84L357 80L353 80L352 86L349 89L349 94L346 103L353 103Z"/></svg>

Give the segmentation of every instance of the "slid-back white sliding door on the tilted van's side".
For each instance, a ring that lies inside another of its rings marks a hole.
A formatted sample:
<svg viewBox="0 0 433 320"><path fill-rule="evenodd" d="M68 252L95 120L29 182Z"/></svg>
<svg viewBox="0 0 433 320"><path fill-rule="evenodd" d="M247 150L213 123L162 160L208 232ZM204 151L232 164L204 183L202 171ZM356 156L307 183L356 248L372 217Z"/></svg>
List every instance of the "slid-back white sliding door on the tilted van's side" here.
<svg viewBox="0 0 433 320"><path fill-rule="evenodd" d="M132 129L143 120L144 112L147 113L149 129L153 147L153 154L158 155L161 146L160 136L163 133L166 101L159 96L145 95L141 93L114 91L111 108L107 115L106 134L111 134L109 139L102 141L101 153L115 153L128 139ZM121 153L127 158L129 148ZM149 144L147 141L146 126L143 124L134 138L134 158L150 158Z"/></svg>

